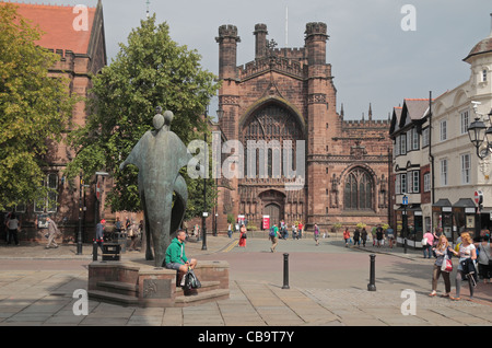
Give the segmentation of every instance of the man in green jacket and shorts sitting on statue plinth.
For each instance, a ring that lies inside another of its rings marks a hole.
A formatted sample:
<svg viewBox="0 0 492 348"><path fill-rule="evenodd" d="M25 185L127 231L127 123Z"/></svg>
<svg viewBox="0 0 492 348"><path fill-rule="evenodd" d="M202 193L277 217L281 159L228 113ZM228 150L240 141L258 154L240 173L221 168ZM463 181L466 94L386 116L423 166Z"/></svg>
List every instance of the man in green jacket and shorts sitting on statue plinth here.
<svg viewBox="0 0 492 348"><path fill-rule="evenodd" d="M178 230L176 237L171 242L166 250L166 257L164 259L164 267L167 269L175 269L178 271L178 278L176 285L184 286L181 280L188 271L188 267L194 269L197 266L195 258L188 259L185 254L185 240L186 233L183 230Z"/></svg>

